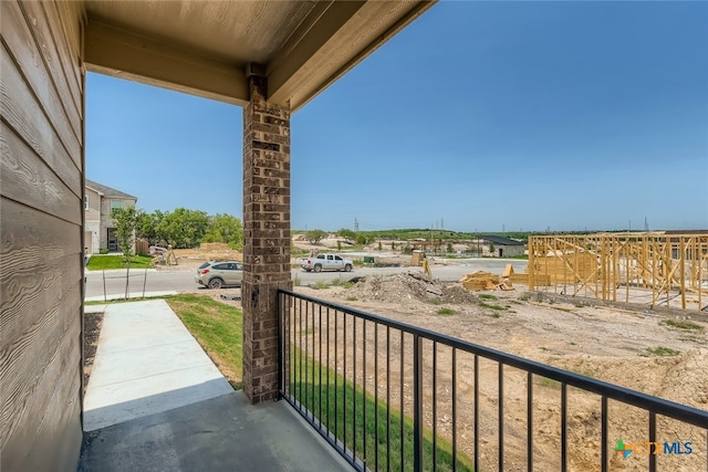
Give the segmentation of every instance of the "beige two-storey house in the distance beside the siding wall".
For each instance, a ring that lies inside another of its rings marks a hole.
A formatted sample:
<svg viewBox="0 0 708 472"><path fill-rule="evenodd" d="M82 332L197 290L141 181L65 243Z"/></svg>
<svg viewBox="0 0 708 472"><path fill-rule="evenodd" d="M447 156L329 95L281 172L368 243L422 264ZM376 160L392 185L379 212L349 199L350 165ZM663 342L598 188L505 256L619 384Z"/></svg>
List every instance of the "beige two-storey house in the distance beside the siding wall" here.
<svg viewBox="0 0 708 472"><path fill-rule="evenodd" d="M102 249L107 249L108 252L118 251L118 239L111 212L116 208L135 207L136 203L137 197L86 179L84 245L88 254L96 254Z"/></svg>

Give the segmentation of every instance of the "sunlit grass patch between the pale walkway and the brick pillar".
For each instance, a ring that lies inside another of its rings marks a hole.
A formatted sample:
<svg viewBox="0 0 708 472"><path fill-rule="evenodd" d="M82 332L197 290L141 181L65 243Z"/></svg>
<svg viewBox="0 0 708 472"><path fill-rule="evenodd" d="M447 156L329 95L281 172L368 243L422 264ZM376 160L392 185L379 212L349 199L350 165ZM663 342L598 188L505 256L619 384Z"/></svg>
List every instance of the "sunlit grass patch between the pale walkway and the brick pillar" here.
<svg viewBox="0 0 708 472"><path fill-rule="evenodd" d="M180 294L166 297L187 329L235 389L243 387L243 315L210 296Z"/></svg>

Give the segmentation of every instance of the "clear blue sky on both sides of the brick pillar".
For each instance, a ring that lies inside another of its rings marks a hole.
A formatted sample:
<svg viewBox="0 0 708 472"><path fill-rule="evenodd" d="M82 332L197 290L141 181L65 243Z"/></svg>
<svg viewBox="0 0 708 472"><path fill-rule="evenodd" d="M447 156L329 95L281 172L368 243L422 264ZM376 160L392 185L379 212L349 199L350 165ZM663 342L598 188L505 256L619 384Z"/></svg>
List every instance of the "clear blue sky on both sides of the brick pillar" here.
<svg viewBox="0 0 708 472"><path fill-rule="evenodd" d="M708 228L708 2L440 2L295 113L292 228ZM88 74L86 175L242 218L242 109Z"/></svg>

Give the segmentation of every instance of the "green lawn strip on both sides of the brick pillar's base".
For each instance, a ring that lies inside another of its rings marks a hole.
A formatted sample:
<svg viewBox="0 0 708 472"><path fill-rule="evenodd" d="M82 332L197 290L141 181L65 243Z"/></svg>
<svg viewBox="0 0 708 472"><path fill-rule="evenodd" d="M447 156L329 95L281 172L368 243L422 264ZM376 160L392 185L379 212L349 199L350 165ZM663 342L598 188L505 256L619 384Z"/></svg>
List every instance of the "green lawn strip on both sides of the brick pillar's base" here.
<svg viewBox="0 0 708 472"><path fill-rule="evenodd" d="M236 389L242 388L241 311L205 295L180 294L165 300L227 380ZM400 412L394 408L387 410L385 401L378 399L376 402L373 395L344 380L342 376L316 360L302 356L302 352L296 347L292 348L290 365L292 395L305 408L317 415L340 440L345 440L350 450L355 450L363 457L366 448L367 468L375 469L376 451L378 470L388 470L389 463L389 470L407 470L413 466L414 427L410 418L402 419ZM303 378L305 369L308 375ZM295 382L301 378L302 382ZM388 423L391 428L387 428ZM375 438L377 430L378 442ZM444 439L437 439L437 468L434 468L430 430L424 432L424 469L452 470L451 444ZM400 463L402 450L404 464ZM458 451L457 470L472 469L471 460Z"/></svg>

